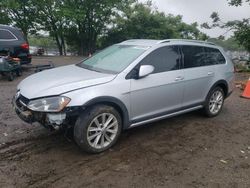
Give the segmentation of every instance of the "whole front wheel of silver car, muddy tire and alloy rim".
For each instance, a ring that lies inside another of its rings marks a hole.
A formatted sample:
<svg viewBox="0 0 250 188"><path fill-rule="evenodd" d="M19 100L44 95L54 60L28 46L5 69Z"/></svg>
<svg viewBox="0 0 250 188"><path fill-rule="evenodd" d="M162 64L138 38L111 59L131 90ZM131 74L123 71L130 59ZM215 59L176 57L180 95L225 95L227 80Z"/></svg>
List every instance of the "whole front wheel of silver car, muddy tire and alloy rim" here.
<svg viewBox="0 0 250 188"><path fill-rule="evenodd" d="M95 105L78 117L74 139L85 152L100 153L116 143L121 130L121 116L113 107Z"/></svg>

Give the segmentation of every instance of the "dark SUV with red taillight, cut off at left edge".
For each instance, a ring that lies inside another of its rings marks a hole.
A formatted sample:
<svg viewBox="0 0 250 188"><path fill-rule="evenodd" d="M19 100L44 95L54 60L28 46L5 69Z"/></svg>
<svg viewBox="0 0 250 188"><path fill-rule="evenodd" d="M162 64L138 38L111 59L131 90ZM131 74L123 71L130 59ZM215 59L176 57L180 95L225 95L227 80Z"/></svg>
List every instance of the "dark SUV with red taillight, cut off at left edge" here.
<svg viewBox="0 0 250 188"><path fill-rule="evenodd" d="M20 29L0 24L0 55L20 58L21 64L31 63L29 43Z"/></svg>

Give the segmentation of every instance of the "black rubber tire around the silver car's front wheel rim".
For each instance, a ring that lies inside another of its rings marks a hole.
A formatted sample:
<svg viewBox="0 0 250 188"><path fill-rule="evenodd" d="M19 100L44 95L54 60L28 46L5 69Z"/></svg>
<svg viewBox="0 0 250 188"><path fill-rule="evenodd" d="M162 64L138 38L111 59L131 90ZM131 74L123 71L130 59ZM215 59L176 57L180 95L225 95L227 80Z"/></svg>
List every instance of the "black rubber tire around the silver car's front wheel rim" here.
<svg viewBox="0 0 250 188"><path fill-rule="evenodd" d="M96 149L89 145L87 140L87 130L91 123L91 121L98 115L102 113L111 113L113 114L118 121L118 132L115 139L112 141L110 145L102 149ZM88 153L100 153L103 152L110 147L112 147L118 140L122 130L122 120L120 114L111 106L107 105L95 105L86 109L76 120L74 126L74 139L77 145Z"/></svg>

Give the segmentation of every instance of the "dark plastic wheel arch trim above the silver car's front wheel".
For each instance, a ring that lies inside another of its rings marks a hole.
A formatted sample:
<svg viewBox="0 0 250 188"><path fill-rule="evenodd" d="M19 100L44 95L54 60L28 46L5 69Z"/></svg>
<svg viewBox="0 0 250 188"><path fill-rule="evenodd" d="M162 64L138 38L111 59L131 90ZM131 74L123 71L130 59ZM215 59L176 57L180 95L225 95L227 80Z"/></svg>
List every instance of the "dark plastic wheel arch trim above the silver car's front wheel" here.
<svg viewBox="0 0 250 188"><path fill-rule="evenodd" d="M88 108L90 106L97 105L97 104L106 104L108 106L114 107L121 115L122 122L123 122L122 128L127 129L129 127L128 110L125 104L121 100L115 97L110 97L110 96L97 97L85 103L83 107Z"/></svg>

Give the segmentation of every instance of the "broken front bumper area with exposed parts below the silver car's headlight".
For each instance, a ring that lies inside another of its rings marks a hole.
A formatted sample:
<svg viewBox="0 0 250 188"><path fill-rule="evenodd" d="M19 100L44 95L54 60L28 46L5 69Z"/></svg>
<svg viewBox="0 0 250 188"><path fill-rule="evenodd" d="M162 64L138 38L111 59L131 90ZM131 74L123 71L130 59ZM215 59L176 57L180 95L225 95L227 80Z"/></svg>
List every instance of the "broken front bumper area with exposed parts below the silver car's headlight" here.
<svg viewBox="0 0 250 188"><path fill-rule="evenodd" d="M19 118L29 124L38 122L52 130L66 128L74 124L80 109L80 107L68 107L58 113L35 112L27 107L28 102L29 100L22 95L13 98L12 105Z"/></svg>

